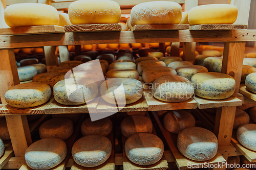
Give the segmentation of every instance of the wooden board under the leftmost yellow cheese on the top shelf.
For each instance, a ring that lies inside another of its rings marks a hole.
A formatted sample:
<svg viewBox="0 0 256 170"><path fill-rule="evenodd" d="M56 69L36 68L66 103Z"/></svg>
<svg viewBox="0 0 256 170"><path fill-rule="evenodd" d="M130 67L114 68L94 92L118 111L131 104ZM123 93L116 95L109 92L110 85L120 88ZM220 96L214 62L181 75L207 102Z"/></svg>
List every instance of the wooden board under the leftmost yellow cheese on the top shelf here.
<svg viewBox="0 0 256 170"><path fill-rule="evenodd" d="M31 27L11 27L1 28L0 35L26 35L26 34L50 34L64 33L61 26L31 26Z"/></svg>

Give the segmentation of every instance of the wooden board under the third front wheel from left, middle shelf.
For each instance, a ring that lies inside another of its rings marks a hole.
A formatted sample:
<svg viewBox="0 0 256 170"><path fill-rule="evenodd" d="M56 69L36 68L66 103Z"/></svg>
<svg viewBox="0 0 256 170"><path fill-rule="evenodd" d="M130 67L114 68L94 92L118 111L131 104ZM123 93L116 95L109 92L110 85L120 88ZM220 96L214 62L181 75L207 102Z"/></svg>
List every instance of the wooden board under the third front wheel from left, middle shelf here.
<svg viewBox="0 0 256 170"><path fill-rule="evenodd" d="M132 112L132 111L147 111L147 103L143 96L135 103L125 105L121 110L119 110L116 105L109 104L105 102L102 98L100 99L97 112Z"/></svg>

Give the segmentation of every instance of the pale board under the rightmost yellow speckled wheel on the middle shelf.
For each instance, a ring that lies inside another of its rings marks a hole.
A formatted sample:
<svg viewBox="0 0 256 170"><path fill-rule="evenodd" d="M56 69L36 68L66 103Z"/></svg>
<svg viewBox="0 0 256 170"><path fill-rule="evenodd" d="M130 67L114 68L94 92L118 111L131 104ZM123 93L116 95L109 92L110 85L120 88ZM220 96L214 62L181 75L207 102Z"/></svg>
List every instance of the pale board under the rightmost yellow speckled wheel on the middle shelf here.
<svg viewBox="0 0 256 170"><path fill-rule="evenodd" d="M243 101L235 96L230 96L230 98L223 100L203 99L199 96L194 96L194 99L198 102L197 106L199 109L241 106L243 103Z"/></svg>

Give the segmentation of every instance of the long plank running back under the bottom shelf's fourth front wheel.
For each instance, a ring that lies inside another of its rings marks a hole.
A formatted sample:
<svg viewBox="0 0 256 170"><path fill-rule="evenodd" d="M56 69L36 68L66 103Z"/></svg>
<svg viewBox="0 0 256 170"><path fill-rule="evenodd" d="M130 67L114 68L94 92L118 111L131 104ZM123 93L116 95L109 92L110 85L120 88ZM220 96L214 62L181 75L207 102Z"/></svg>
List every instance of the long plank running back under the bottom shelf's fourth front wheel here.
<svg viewBox="0 0 256 170"><path fill-rule="evenodd" d="M221 162L226 162L226 160L221 156L221 154L219 152L217 152L217 155L208 160L208 161L194 161L191 159L186 158L185 156L183 156L180 151L177 148L177 135L176 134L172 134L170 132L168 132L166 129L164 129L164 127L162 126L159 116L157 115L156 112L153 112L153 115L157 121L157 124L159 126L159 128L161 129L161 132L164 135L164 138L168 144L169 149L172 151L175 159L176 159L176 164L178 166L178 168L180 170L183 169L188 169L188 165L190 164L194 164L196 165L203 165L204 163L206 164L217 164L217 163L221 163Z"/></svg>

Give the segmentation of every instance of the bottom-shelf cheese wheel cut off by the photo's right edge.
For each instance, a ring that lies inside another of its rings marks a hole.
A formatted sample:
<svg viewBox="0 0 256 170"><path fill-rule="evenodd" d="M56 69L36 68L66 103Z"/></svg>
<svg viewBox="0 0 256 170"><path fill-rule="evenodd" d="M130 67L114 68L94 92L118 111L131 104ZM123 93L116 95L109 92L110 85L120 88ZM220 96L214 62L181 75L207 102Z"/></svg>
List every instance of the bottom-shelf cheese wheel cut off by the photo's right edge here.
<svg viewBox="0 0 256 170"><path fill-rule="evenodd" d="M238 128L237 139L245 147L256 151L256 125L245 124Z"/></svg>

